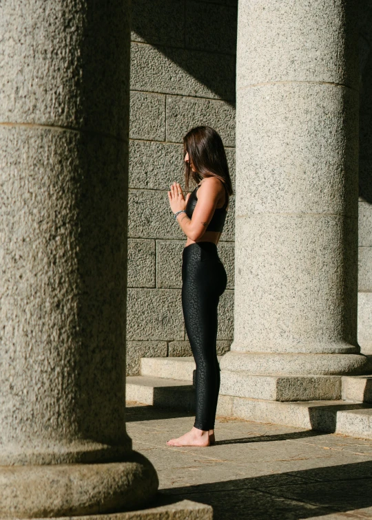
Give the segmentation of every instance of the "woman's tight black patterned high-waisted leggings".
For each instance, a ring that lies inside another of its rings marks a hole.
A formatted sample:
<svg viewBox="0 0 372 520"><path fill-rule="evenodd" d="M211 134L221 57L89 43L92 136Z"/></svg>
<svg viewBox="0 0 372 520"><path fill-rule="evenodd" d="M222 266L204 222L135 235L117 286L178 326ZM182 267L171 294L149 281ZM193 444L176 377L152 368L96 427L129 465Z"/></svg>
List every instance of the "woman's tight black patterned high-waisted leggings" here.
<svg viewBox="0 0 372 520"><path fill-rule="evenodd" d="M187 336L196 362L196 419L200 430L214 429L220 367L217 307L227 275L213 242L196 242L183 249L182 307Z"/></svg>

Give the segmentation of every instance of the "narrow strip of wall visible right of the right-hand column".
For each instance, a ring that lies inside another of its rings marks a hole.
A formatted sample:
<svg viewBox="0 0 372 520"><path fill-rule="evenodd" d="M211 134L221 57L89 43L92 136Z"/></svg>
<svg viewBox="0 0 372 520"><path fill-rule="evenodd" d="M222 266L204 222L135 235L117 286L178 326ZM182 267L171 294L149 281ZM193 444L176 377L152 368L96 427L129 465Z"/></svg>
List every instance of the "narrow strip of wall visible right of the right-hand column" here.
<svg viewBox="0 0 372 520"><path fill-rule="evenodd" d="M360 1L358 343L372 354L372 3Z"/></svg>

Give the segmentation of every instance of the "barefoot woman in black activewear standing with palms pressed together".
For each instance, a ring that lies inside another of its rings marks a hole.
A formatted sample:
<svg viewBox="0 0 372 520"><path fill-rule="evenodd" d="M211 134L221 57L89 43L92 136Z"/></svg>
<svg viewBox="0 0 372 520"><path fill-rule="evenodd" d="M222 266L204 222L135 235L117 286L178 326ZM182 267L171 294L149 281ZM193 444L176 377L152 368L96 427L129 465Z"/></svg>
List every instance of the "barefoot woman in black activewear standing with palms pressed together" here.
<svg viewBox="0 0 372 520"><path fill-rule="evenodd" d="M196 362L196 419L191 431L167 444L209 446L214 443L220 389L217 307L227 285L217 243L233 191L223 142L214 129L190 130L183 138L183 147L186 191L190 177L198 186L185 199L180 184L174 182L168 198L174 218L187 236L182 263L182 307Z"/></svg>

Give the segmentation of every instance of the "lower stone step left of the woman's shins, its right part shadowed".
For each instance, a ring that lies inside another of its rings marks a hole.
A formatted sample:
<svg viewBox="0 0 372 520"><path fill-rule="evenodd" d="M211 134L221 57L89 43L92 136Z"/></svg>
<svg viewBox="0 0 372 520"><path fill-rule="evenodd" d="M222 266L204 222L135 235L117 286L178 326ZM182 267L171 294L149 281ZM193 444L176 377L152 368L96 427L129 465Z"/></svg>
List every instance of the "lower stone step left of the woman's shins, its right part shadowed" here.
<svg viewBox="0 0 372 520"><path fill-rule="evenodd" d="M174 410L195 409L195 390L189 382L151 376L128 376L126 381L127 401Z"/></svg>

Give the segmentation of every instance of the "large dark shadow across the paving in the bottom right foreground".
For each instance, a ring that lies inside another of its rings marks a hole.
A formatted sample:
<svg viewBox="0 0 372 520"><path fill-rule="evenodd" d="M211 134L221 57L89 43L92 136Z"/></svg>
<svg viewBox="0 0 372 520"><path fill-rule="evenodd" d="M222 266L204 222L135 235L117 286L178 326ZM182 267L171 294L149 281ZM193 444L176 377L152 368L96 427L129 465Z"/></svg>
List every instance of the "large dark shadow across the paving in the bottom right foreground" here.
<svg viewBox="0 0 372 520"><path fill-rule="evenodd" d="M340 512L349 512L346 518L371 518L371 475L369 461L169 488L161 493L209 504L214 520L299 520ZM358 516L350 513L362 508L370 509Z"/></svg>

